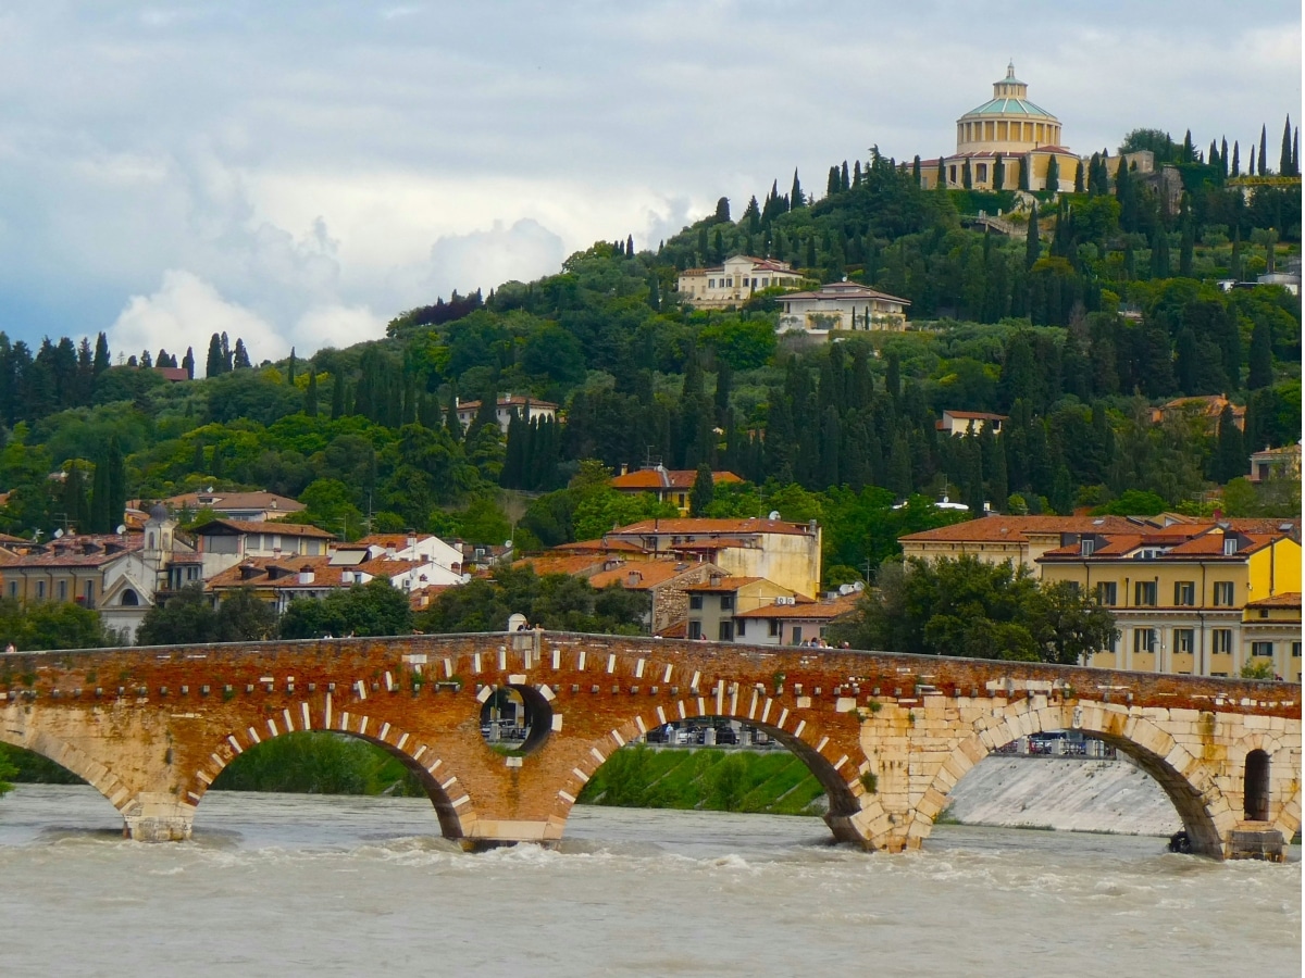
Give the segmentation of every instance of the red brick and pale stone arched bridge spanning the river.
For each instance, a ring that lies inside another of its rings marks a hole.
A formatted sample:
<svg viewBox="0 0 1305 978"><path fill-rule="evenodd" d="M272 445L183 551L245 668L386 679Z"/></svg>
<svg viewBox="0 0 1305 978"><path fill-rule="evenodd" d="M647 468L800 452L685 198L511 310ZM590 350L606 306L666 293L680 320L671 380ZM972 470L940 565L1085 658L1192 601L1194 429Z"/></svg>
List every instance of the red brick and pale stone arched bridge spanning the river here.
<svg viewBox="0 0 1305 978"><path fill-rule="evenodd" d="M505 686L532 716L522 756L480 734ZM543 631L0 655L0 741L84 777L145 841L188 838L244 751L331 730L399 758L445 836L547 844L615 750L703 716L778 738L868 849L919 848L974 764L1061 729L1131 756L1195 852L1300 828L1301 687L1280 682Z"/></svg>

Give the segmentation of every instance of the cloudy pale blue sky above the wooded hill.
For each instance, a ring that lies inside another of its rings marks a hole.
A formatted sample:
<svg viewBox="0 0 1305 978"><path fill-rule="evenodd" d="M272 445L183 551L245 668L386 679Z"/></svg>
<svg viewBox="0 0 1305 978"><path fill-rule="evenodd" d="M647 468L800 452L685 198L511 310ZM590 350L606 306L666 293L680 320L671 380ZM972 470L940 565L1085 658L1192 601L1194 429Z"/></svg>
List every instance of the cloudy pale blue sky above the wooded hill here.
<svg viewBox="0 0 1305 978"><path fill-rule="evenodd" d="M638 246L877 143L954 147L1014 59L1081 153L1245 147L1301 106L1301 7L1212 0L0 5L0 329L254 359ZM1249 9L1249 8L1248 8Z"/></svg>

